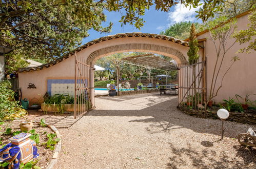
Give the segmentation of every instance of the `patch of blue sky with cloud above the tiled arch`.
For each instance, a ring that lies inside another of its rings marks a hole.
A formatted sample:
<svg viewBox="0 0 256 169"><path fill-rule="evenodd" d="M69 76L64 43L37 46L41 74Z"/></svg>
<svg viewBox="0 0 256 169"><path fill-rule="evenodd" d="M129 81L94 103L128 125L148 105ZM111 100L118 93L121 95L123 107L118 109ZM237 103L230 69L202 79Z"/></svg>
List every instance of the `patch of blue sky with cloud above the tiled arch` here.
<svg viewBox="0 0 256 169"><path fill-rule="evenodd" d="M195 18L195 11L198 8L188 8L183 7L183 5L178 4L171 8L170 12L162 12L161 10L156 11L155 7L150 7L149 10L146 10L145 15L142 18L146 21L144 23L143 28L141 30L136 29L134 26L131 25L124 25L121 27L121 23L119 20L121 19L121 13L119 12L108 12L106 11L105 14L107 16L107 21L103 23L103 26L107 26L109 22L113 23L112 32L110 33L100 33L94 30L89 30L88 33L90 36L86 37L82 41L82 45L87 43L88 41L107 36L107 35L114 35L117 33L128 33L128 32L142 32L142 33L160 33L164 31L169 26L179 23L181 21L191 21L191 22L199 22L202 23L201 20L197 20Z"/></svg>

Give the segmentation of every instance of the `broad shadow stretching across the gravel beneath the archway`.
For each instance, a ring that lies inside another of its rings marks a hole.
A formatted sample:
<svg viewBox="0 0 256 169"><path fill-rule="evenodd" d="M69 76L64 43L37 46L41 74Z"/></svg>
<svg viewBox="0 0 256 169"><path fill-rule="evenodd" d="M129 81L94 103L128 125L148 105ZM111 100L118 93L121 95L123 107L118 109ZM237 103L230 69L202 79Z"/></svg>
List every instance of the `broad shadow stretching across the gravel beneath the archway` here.
<svg viewBox="0 0 256 169"><path fill-rule="evenodd" d="M161 97L167 97L161 95ZM209 133L214 135L221 135L221 121L216 119L204 119L189 116L176 108L178 98L172 98L168 101L155 103L154 99L150 99L148 107L142 110L92 110L85 116L137 116L144 117L144 119L131 120L129 122L146 122L150 123L146 131L150 133L157 132L171 132L174 129L187 128L198 133ZM113 102L113 105L115 102ZM116 104L120 104L116 101ZM233 129L228 124L234 122L225 121L224 136L236 138L239 133L244 133L246 129L240 127ZM244 125L237 123L236 125ZM203 141L203 140L202 140Z"/></svg>

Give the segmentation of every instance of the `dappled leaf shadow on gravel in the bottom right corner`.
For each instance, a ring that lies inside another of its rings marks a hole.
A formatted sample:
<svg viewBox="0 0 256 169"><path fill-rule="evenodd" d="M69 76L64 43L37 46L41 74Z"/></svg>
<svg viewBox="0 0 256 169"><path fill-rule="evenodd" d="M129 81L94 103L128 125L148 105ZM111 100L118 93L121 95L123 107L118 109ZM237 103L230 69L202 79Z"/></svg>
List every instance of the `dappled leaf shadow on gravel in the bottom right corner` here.
<svg viewBox="0 0 256 169"><path fill-rule="evenodd" d="M248 168L249 164L256 164L256 150L250 152L249 149L241 146L237 156L243 158L243 163L230 159L225 151L217 155L215 151L208 148L193 149L190 144L187 144L187 148L176 148L170 143L170 148L171 157L169 157L170 162L167 163L167 168L186 168L191 163L195 168Z"/></svg>

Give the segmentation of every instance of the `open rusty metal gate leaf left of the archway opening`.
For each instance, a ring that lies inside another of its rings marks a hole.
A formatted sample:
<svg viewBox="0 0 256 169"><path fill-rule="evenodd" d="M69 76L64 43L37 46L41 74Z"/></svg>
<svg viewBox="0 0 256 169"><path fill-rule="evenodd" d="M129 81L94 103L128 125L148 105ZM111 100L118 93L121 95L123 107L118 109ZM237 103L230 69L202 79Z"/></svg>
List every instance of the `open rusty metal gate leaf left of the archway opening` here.
<svg viewBox="0 0 256 169"><path fill-rule="evenodd" d="M74 118L94 109L94 68L75 52Z"/></svg>

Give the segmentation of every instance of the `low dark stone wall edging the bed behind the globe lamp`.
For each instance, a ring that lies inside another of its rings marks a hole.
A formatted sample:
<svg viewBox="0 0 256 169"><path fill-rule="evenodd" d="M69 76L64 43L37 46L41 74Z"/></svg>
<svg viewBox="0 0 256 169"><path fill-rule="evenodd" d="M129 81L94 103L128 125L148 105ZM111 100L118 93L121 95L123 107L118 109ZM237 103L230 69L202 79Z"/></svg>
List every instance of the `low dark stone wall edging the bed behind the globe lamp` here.
<svg viewBox="0 0 256 169"><path fill-rule="evenodd" d="M180 108L184 113L195 116L195 117L203 117L205 116L204 112L198 112L198 111L191 111L186 110L184 108ZM206 113L206 118L213 118L213 119L220 119L217 116L217 112L208 112ZM253 124L256 125L256 114L254 113L236 113L236 112L229 112L229 117L226 119L228 121L235 121L240 122L244 124Z"/></svg>

